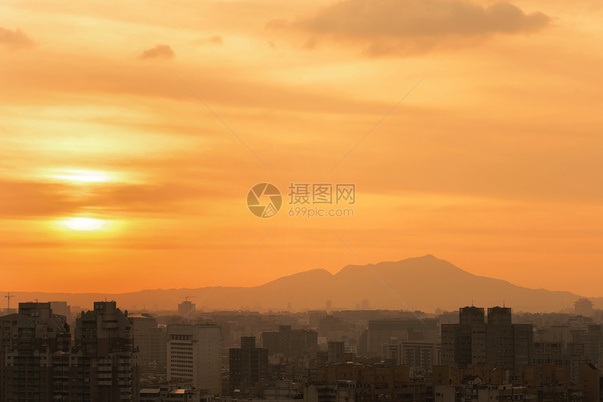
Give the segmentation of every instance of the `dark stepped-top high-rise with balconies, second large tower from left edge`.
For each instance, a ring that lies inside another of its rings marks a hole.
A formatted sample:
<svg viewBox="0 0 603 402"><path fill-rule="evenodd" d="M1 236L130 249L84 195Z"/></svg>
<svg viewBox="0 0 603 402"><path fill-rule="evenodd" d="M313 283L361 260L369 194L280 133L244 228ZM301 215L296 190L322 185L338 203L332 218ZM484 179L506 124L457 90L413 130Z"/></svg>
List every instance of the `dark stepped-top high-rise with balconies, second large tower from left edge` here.
<svg viewBox="0 0 603 402"><path fill-rule="evenodd" d="M137 401L138 368L127 312L114 301L94 303L76 319L67 401Z"/></svg>

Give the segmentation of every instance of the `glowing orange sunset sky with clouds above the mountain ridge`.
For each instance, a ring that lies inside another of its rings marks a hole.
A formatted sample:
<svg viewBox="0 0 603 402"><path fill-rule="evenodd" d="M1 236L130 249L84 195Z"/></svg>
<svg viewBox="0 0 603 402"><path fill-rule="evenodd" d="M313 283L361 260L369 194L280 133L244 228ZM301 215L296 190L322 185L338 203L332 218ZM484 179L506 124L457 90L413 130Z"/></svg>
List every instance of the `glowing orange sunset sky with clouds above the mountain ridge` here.
<svg viewBox="0 0 603 402"><path fill-rule="evenodd" d="M603 296L602 67L601 1L2 1L0 290L433 254ZM288 216L290 183L354 216Z"/></svg>

